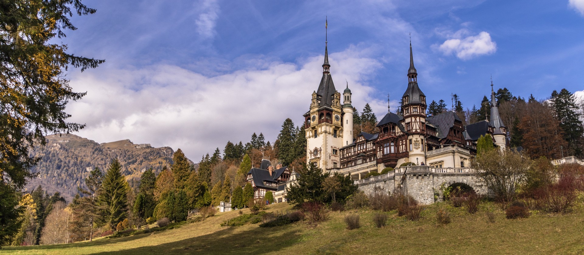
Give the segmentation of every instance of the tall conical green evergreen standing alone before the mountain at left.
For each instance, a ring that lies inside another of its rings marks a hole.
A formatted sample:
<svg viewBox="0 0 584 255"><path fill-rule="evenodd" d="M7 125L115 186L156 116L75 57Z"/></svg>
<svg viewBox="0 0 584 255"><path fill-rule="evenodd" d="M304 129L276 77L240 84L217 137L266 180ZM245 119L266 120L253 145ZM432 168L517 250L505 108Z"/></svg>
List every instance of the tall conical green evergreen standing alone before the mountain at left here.
<svg viewBox="0 0 584 255"><path fill-rule="evenodd" d="M98 196L99 203L106 207L103 220L112 229L126 218L128 188L128 183L121 175L120 162L115 159L107 169L103 178L102 192Z"/></svg>

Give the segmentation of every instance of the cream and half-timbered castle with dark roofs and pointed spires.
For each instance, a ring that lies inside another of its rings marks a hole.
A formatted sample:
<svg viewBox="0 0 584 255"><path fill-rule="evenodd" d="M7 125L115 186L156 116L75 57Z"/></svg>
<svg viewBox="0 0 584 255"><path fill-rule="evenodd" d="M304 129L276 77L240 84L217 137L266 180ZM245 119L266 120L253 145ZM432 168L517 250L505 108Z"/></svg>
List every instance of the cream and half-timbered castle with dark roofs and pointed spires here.
<svg viewBox="0 0 584 255"><path fill-rule="evenodd" d="M496 146L507 146L507 130L492 88L490 121L463 126L453 111L427 116L426 95L418 86L411 43L409 53L408 86L399 114L385 114L377 123L380 132L353 134L352 92L347 84L341 103L325 46L321 83L312 93L310 110L304 114L307 164L357 180L406 162L434 168L467 168L476 154L477 140L485 134L491 134Z"/></svg>

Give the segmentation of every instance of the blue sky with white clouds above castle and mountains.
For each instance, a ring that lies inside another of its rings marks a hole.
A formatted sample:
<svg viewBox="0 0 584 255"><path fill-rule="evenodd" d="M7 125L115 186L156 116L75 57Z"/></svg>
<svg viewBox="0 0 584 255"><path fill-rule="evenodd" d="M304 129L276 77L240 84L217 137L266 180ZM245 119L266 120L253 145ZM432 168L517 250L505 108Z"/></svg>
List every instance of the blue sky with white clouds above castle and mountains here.
<svg viewBox="0 0 584 255"><path fill-rule="evenodd" d="M331 73L353 105L378 116L407 86L409 33L429 100L464 107L490 91L546 98L584 90L584 0L561 1L85 1L69 52L106 59L70 70L72 121L99 143L182 148L194 161L227 140L297 124L322 76L325 16Z"/></svg>

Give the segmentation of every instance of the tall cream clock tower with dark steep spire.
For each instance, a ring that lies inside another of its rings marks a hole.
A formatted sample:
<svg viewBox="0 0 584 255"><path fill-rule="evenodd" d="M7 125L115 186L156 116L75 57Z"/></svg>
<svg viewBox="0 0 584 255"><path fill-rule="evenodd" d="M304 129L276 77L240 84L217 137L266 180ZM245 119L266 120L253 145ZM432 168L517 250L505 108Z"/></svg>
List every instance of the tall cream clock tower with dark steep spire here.
<svg viewBox="0 0 584 255"><path fill-rule="evenodd" d="M312 93L310 111L304 114L306 131L306 161L323 170L340 167L339 148L343 146L343 112L340 93L329 72L328 49L318 90Z"/></svg>

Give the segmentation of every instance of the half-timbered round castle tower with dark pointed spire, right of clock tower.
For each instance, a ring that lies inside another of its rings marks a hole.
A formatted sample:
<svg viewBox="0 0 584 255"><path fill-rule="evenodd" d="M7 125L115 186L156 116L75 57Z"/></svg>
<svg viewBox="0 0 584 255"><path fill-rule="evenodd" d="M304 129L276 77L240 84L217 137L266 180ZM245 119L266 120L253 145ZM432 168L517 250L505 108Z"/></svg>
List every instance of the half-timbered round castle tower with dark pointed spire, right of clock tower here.
<svg viewBox="0 0 584 255"><path fill-rule="evenodd" d="M426 95L418 87L418 71L413 66L412 42L409 43L408 89L402 96L402 115L402 124L408 133L406 150L409 151L409 162L426 162Z"/></svg>

